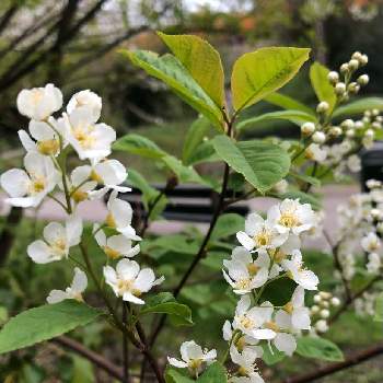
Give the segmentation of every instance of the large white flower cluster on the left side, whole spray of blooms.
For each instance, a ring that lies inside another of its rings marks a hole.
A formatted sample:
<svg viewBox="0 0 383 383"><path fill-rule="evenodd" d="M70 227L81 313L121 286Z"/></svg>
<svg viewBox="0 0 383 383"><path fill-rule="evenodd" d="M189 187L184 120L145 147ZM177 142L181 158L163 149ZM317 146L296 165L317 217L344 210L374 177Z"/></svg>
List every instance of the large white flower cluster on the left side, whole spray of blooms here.
<svg viewBox="0 0 383 383"><path fill-rule="evenodd" d="M127 178L125 166L117 160L108 159L115 130L100 123L102 100L85 90L76 93L66 111L59 116L53 114L62 107L61 91L53 84L45 88L23 90L18 96L19 112L30 118L28 130L20 130L20 140L26 150L24 169L12 169L0 177L1 187L9 194L7 201L18 207L37 207L44 198L50 197L68 213L65 223L50 222L44 228L43 239L27 247L28 256L38 264L47 264L70 256L71 247L79 245L83 224L77 213L78 205L88 199L102 198L107 192L107 217L102 225L95 225L93 235L106 256L118 262L116 269L104 267L104 277L117 297L137 304L139 298L153 286L162 282L155 279L153 270L140 270L134 257L140 251L132 241L140 241L131 225L132 209L127 201L117 198L118 193L129 192L121 186ZM86 163L67 172L67 155L70 151ZM61 190L65 198L54 195ZM103 231L109 228L113 235ZM54 290L49 303L63 299L81 299L86 288L86 275L79 268L66 291Z"/></svg>

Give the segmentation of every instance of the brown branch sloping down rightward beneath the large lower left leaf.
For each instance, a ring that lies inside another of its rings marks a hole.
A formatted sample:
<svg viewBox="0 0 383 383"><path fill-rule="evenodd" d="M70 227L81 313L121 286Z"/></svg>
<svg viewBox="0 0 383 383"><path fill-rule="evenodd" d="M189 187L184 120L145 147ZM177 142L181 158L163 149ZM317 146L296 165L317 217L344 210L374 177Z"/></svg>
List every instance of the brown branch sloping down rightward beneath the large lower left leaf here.
<svg viewBox="0 0 383 383"><path fill-rule="evenodd" d="M121 369L116 364L112 363L111 361L108 361L107 359L105 359L104 357L102 357L100 353L88 349L86 347L82 346L80 343L67 336L60 336L56 339L53 339L53 341L81 355L85 359L90 360L97 368L107 372L111 376L118 379L119 381L123 381Z"/></svg>

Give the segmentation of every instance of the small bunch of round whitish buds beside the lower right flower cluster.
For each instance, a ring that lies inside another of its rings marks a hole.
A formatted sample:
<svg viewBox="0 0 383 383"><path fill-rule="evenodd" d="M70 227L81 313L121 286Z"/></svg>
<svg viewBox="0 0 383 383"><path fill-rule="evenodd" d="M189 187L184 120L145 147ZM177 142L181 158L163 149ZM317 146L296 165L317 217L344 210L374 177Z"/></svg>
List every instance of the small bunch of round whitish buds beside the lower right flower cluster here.
<svg viewBox="0 0 383 383"><path fill-rule="evenodd" d="M340 300L334 297L330 292L318 291L314 295L314 304L311 306L310 315L312 321L312 334L326 333L329 328L328 318L330 316L330 309L337 307Z"/></svg>

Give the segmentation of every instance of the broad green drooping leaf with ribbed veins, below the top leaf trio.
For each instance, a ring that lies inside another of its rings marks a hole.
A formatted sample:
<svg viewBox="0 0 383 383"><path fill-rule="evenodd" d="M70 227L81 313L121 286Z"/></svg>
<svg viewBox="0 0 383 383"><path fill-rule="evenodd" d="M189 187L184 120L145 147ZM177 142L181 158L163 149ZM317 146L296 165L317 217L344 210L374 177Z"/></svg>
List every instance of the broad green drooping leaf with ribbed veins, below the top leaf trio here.
<svg viewBox="0 0 383 383"><path fill-rule="evenodd" d="M227 136L217 136L213 146L218 155L260 193L270 189L290 169L289 154L274 143L234 142Z"/></svg>

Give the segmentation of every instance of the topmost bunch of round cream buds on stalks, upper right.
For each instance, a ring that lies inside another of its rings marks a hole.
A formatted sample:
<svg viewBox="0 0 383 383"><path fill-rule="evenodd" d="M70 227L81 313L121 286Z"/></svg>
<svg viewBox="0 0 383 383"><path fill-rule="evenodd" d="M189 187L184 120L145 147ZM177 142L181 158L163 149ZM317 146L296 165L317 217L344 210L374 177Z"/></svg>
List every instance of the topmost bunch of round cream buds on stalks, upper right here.
<svg viewBox="0 0 383 383"><path fill-rule="evenodd" d="M358 69L364 67L369 62L367 55L360 51L352 54L351 59L340 66L339 72L330 71L328 73L328 81L334 86L337 102L341 103L348 101L351 95L359 93L361 86L369 83L368 74L360 74L353 78Z"/></svg>

